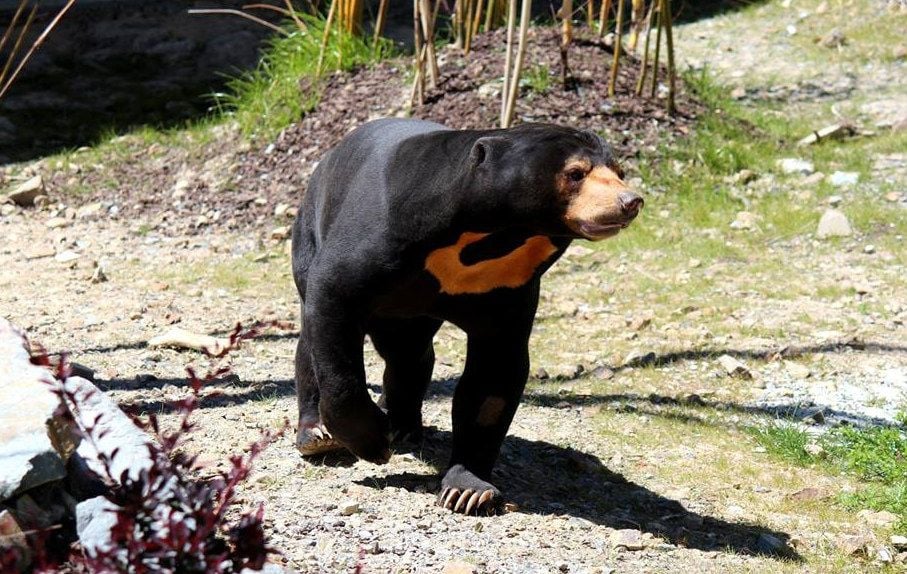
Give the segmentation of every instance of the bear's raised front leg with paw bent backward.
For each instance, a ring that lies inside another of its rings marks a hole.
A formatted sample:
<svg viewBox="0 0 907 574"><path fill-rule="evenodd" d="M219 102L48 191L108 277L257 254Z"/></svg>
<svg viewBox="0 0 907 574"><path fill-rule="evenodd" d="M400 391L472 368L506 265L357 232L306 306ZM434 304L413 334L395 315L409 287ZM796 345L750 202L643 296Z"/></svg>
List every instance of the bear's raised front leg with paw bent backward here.
<svg viewBox="0 0 907 574"><path fill-rule="evenodd" d="M310 335L318 411L334 440L361 459L384 464L391 457L390 427L366 386L363 314L357 313L357 301L345 294L310 277L304 328Z"/></svg>

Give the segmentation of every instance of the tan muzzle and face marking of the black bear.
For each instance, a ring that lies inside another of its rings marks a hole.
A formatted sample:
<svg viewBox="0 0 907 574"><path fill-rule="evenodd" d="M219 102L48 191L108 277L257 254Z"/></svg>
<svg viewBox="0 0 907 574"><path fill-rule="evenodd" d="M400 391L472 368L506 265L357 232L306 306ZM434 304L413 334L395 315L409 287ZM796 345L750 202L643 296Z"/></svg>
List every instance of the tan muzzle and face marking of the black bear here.
<svg viewBox="0 0 907 574"><path fill-rule="evenodd" d="M569 198L564 221L586 239L604 239L615 235L625 221L620 193L628 187L612 169L589 167L588 161L569 160L558 175L558 188ZM583 170L581 182L571 179L575 170Z"/></svg>

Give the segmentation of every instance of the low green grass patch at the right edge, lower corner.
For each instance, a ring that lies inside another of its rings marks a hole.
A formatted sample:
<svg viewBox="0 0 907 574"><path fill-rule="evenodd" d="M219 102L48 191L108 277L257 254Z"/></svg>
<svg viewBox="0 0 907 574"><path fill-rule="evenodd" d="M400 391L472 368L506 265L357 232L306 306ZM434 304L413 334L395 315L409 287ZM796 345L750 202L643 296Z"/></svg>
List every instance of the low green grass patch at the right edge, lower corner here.
<svg viewBox="0 0 907 574"><path fill-rule="evenodd" d="M818 466L857 478L862 488L843 493L838 502L851 509L887 510L901 517L898 529L907 530L907 433L901 427L838 427L818 439L785 423L750 429L766 451L800 466ZM823 451L805 450L816 442Z"/></svg>

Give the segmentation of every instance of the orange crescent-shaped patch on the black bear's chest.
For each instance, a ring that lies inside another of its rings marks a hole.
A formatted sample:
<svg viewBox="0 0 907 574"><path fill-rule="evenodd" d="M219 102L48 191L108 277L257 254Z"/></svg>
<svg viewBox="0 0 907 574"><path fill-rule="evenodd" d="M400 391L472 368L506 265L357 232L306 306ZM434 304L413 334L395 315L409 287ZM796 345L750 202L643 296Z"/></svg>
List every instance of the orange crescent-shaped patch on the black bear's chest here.
<svg viewBox="0 0 907 574"><path fill-rule="evenodd" d="M520 287L532 279L539 265L557 252L543 235L534 235L513 251L494 259L466 265L460 254L488 233L466 232L453 245L435 249L425 258L425 269L448 295L487 293L498 287Z"/></svg>

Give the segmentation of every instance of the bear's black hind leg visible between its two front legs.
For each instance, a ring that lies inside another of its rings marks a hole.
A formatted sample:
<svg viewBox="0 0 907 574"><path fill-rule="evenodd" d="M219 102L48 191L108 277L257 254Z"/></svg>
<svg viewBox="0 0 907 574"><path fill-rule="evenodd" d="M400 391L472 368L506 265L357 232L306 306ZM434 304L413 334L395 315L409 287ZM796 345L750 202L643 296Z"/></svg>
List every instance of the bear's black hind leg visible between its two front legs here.
<svg viewBox="0 0 907 574"><path fill-rule="evenodd" d="M422 400L435 365L432 339L440 327L440 320L429 317L378 319L369 325L369 336L385 363L379 405L387 410L396 440L422 438Z"/></svg>

